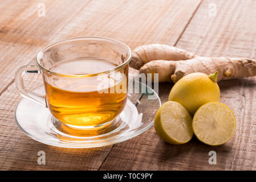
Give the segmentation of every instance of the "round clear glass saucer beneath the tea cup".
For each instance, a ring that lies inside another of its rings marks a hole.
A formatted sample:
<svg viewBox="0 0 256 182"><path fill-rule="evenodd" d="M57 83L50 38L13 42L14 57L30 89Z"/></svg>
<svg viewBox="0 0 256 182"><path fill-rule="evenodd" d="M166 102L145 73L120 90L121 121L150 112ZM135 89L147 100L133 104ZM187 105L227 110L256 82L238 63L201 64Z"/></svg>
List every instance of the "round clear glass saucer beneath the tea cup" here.
<svg viewBox="0 0 256 182"><path fill-rule="evenodd" d="M35 89L44 94L43 86ZM55 119L42 105L22 98L15 109L15 122L32 139L56 147L92 148L108 146L136 137L153 125L161 106L159 96L149 86L129 78L127 105L119 116L102 127L78 130Z"/></svg>

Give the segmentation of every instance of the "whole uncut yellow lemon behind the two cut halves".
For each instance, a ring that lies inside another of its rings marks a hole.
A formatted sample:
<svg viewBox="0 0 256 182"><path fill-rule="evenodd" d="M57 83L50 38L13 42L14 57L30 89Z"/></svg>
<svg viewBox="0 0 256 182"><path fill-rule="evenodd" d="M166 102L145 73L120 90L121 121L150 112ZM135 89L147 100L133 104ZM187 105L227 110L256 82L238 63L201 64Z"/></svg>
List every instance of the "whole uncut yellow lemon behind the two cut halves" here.
<svg viewBox="0 0 256 182"><path fill-rule="evenodd" d="M220 101L220 88L205 73L191 73L176 82L168 101L180 103L193 115L201 105Z"/></svg>

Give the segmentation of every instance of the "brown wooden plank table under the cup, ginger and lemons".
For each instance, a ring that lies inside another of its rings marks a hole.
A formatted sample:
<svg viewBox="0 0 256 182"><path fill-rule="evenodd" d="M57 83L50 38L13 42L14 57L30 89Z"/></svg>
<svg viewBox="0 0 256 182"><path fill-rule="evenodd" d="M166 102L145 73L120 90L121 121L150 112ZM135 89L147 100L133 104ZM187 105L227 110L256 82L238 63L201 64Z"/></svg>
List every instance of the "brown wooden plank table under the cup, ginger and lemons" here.
<svg viewBox="0 0 256 182"><path fill-rule="evenodd" d="M167 144L154 127L123 143L90 149L47 146L23 134L13 117L21 100L14 85L15 71L34 63L36 53L47 44L85 35L113 38L131 49L163 43L202 56L255 59L256 1L1 0L0 169L256 169L256 77L219 82L221 102L234 111L237 130L229 142L218 147L206 146L196 138L184 145ZM28 78L27 85L32 86L33 79ZM162 102L167 101L171 88L172 84L160 84ZM217 152L215 165L208 162L212 150ZM45 165L37 163L38 151L46 153Z"/></svg>

